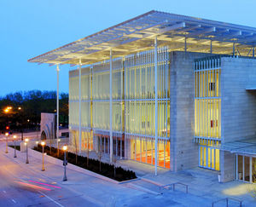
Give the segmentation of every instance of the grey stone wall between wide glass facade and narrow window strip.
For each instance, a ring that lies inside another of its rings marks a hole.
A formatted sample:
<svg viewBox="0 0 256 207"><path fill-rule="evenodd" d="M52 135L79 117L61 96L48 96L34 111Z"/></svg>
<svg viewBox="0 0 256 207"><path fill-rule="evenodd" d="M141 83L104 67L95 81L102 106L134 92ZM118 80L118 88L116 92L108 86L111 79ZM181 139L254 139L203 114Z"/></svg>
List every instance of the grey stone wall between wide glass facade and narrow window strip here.
<svg viewBox="0 0 256 207"><path fill-rule="evenodd" d="M195 135L194 61L212 56L200 53L171 53L171 170L198 166Z"/></svg>

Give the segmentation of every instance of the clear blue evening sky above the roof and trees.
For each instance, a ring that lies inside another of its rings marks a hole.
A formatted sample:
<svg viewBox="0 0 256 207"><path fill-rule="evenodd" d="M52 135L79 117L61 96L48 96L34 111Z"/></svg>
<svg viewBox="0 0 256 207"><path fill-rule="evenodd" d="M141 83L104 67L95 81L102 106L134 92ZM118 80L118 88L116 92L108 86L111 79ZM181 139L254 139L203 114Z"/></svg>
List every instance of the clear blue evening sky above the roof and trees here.
<svg viewBox="0 0 256 207"><path fill-rule="evenodd" d="M0 96L55 90L55 66L28 59L149 10L256 27L255 8L255 0L0 0ZM68 70L61 66L61 92Z"/></svg>

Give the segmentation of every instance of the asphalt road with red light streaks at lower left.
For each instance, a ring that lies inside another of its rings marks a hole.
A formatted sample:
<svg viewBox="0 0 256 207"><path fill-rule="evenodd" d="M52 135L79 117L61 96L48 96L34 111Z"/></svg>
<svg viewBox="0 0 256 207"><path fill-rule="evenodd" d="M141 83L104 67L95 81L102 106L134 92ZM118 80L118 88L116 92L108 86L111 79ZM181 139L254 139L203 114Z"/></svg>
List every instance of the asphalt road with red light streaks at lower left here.
<svg viewBox="0 0 256 207"><path fill-rule="evenodd" d="M0 153L0 206L96 206Z"/></svg>

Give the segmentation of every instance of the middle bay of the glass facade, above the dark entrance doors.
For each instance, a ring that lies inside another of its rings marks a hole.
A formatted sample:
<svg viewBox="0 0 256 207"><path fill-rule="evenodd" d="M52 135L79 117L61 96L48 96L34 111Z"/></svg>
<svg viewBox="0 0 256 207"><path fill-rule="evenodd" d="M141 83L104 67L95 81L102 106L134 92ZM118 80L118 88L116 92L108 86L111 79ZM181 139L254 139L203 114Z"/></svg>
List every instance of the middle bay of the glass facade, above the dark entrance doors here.
<svg viewBox="0 0 256 207"><path fill-rule="evenodd" d="M97 149L105 153L110 152L109 148L109 60L93 67L93 129L96 131L94 139L97 142ZM113 154L125 156L124 136L124 67L123 59L113 59L113 82L112 82L112 128L113 128Z"/></svg>

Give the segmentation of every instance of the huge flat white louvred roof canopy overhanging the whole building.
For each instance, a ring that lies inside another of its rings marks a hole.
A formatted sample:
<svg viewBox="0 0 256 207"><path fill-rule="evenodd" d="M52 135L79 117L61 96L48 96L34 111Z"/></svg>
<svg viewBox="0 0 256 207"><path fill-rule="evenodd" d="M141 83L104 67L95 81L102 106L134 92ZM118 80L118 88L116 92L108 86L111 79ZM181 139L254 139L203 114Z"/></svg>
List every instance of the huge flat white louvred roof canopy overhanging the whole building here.
<svg viewBox="0 0 256 207"><path fill-rule="evenodd" d="M236 43L240 55L251 56L256 28L152 10L28 61L89 65L109 59L110 49L113 58L151 49L155 37L170 51L183 51L186 42L187 51L209 53L212 45L214 54L232 54Z"/></svg>

